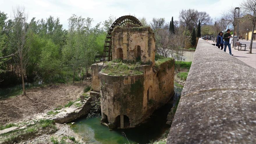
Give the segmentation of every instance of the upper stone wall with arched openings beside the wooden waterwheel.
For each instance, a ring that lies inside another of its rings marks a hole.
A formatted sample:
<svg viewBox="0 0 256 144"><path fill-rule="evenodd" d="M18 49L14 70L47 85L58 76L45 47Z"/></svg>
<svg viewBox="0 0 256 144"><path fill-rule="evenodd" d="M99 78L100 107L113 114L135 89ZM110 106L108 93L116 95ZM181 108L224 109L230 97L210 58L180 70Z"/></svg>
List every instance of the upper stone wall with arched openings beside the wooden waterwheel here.
<svg viewBox="0 0 256 144"><path fill-rule="evenodd" d="M112 57L136 61L140 52L141 61L154 63L155 38L150 27L115 27L112 32ZM138 52L138 46L140 51Z"/></svg>

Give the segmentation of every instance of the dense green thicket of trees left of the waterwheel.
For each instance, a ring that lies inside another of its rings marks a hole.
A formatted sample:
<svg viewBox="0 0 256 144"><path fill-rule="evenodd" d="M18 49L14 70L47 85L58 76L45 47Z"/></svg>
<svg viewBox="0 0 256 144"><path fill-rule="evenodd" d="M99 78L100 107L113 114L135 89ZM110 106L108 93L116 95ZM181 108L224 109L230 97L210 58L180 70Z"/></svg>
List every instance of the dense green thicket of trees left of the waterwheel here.
<svg viewBox="0 0 256 144"><path fill-rule="evenodd" d="M21 65L25 82L74 83L86 79L91 64L103 53L106 32L100 24L92 26L92 18L72 15L66 30L59 18L26 21L21 9L17 13L20 15L10 19L0 12L0 29L4 29L0 31L0 57L4 57L0 58L1 98L22 93L22 88L2 89L22 82ZM23 41L17 38L19 34L24 36ZM20 59L26 63L21 64Z"/></svg>

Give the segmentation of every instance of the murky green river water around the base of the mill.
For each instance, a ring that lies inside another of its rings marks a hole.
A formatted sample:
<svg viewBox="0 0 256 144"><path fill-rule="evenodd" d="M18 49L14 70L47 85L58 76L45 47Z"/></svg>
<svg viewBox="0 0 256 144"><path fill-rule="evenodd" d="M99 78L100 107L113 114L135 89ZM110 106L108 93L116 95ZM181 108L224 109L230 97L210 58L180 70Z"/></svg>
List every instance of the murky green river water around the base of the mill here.
<svg viewBox="0 0 256 144"><path fill-rule="evenodd" d="M175 105L181 94L182 88L175 85L175 95L166 105L156 110L147 121L135 128L113 129L100 123L101 117L86 119L80 118L72 125L75 133L79 134L84 141L93 144L146 144L155 141L170 128L166 124L166 118L170 109ZM126 137L124 136L126 135Z"/></svg>

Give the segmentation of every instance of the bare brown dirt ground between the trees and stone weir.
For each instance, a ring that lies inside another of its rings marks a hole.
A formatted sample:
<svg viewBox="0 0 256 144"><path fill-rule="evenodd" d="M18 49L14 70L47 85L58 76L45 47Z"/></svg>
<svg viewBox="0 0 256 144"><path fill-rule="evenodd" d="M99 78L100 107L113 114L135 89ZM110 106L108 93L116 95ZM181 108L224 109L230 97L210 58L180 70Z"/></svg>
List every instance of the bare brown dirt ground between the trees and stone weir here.
<svg viewBox="0 0 256 144"><path fill-rule="evenodd" d="M27 95L0 100L0 125L20 120L30 120L38 113L47 112L59 105L74 101L83 93L91 80L74 84L59 84L31 88Z"/></svg>

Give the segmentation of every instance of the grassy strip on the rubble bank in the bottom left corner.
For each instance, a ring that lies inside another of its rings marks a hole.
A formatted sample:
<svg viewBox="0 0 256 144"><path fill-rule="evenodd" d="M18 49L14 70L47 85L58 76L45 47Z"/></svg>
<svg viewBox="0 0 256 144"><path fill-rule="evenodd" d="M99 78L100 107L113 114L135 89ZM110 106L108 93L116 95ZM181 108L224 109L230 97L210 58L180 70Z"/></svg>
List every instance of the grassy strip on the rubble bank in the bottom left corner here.
<svg viewBox="0 0 256 144"><path fill-rule="evenodd" d="M17 143L26 138L36 137L38 134L51 134L57 130L54 120L41 119L34 121L35 124L27 126L25 129L17 129L0 135L2 143Z"/></svg>

